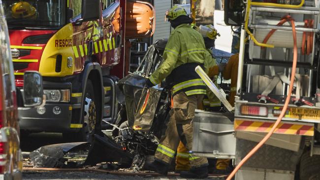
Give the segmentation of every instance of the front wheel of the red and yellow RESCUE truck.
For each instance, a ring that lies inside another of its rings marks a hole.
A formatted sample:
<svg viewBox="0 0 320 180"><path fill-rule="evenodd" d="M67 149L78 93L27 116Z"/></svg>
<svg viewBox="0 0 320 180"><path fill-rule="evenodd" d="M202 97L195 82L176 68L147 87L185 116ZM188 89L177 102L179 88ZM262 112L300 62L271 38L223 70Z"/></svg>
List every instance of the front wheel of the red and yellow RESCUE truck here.
<svg viewBox="0 0 320 180"><path fill-rule="evenodd" d="M65 133L64 136L73 142L91 142L96 128L95 91L91 80L87 80L83 99L82 128L76 133Z"/></svg>

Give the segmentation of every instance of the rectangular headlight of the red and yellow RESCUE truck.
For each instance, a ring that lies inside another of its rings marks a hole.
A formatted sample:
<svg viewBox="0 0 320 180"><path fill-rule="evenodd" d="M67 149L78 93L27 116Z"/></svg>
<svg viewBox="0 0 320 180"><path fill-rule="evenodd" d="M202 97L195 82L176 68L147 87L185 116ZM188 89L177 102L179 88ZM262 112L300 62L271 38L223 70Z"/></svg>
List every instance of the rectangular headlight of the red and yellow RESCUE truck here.
<svg viewBox="0 0 320 180"><path fill-rule="evenodd" d="M70 102L70 90L43 90L47 102Z"/></svg>

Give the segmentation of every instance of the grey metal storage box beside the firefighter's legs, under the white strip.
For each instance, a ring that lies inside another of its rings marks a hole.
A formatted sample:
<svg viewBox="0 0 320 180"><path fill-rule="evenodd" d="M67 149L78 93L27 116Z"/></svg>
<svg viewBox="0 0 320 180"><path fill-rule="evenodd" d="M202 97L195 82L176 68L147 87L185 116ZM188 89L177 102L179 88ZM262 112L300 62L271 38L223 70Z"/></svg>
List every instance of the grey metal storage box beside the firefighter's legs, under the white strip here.
<svg viewBox="0 0 320 180"><path fill-rule="evenodd" d="M192 153L215 158L235 158L233 122L223 113L195 111Z"/></svg>

